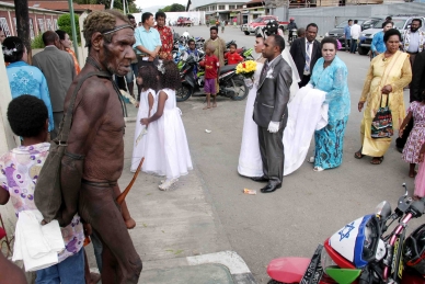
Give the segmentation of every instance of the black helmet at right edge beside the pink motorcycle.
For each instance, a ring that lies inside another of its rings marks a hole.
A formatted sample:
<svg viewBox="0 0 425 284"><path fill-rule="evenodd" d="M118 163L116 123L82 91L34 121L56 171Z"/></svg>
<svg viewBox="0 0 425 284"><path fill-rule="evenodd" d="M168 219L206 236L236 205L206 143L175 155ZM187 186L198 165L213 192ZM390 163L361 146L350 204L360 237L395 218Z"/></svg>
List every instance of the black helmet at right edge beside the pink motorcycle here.
<svg viewBox="0 0 425 284"><path fill-rule="evenodd" d="M403 246L404 263L425 275L425 224L417 227Z"/></svg>

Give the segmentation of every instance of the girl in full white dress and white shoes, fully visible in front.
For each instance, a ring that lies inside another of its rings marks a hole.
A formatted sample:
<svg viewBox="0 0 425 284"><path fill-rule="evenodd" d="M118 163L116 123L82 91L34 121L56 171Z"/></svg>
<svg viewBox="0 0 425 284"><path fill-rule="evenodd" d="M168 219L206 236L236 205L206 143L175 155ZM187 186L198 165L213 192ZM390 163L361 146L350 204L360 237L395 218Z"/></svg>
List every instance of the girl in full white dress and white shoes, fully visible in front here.
<svg viewBox="0 0 425 284"><path fill-rule="evenodd" d="M141 118L141 124L149 126L148 144L145 150L146 168L143 171L165 175L159 189L168 191L180 175L192 170L186 132L176 106L175 90L180 87L177 66L173 61L163 61L160 78L162 90L158 94L158 109L151 117ZM151 143L156 135L158 143Z"/></svg>

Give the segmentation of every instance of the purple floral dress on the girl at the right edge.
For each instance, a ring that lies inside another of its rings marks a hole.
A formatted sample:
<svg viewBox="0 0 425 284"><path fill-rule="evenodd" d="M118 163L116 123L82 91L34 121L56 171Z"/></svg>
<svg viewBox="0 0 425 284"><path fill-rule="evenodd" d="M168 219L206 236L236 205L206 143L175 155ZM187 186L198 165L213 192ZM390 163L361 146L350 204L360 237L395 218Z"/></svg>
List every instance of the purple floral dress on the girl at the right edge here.
<svg viewBox="0 0 425 284"><path fill-rule="evenodd" d="M425 104L412 102L407 109L409 112L413 114L414 124L407 141L404 145L402 159L405 162L417 163L422 144L425 141Z"/></svg>

